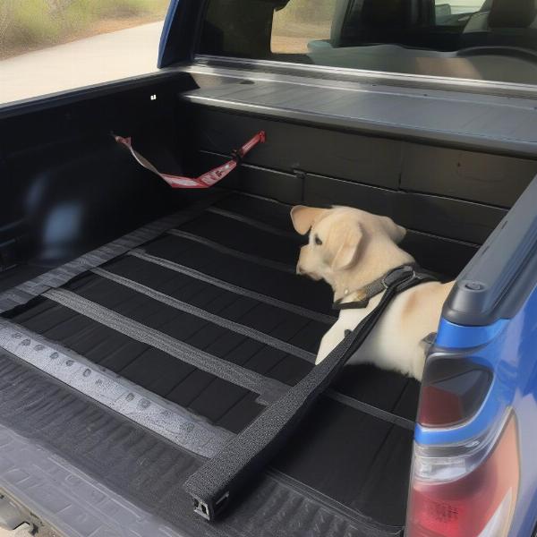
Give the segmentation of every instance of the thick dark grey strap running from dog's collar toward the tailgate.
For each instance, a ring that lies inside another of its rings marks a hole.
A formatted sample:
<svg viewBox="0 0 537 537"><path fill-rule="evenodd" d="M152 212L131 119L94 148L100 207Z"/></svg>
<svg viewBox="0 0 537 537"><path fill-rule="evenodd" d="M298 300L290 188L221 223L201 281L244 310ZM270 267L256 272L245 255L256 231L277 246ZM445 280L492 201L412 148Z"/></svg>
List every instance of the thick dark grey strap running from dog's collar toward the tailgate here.
<svg viewBox="0 0 537 537"><path fill-rule="evenodd" d="M433 279L436 278L411 265L390 270L383 277L386 292L377 307L298 384L269 405L255 421L184 482L183 489L192 496L194 512L209 521L214 520L238 495L245 482L259 475L278 450L284 447L311 405L362 345L396 294Z"/></svg>

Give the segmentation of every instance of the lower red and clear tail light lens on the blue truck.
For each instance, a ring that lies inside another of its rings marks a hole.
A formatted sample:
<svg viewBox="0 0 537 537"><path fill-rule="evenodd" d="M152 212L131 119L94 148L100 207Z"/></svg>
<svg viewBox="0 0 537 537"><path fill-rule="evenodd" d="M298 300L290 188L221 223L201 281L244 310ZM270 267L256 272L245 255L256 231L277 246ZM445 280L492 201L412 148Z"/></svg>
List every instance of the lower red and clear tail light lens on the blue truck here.
<svg viewBox="0 0 537 537"><path fill-rule="evenodd" d="M407 537L505 537L516 504L515 414L460 445L414 445Z"/></svg>

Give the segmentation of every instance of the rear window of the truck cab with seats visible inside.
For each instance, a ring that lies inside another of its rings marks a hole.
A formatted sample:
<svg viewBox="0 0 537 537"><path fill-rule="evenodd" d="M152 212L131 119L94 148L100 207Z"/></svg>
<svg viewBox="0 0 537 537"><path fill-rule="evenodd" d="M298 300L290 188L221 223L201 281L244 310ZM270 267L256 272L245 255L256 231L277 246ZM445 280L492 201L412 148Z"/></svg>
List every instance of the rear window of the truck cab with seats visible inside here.
<svg viewBox="0 0 537 537"><path fill-rule="evenodd" d="M209 0L201 55L537 83L527 0Z"/></svg>

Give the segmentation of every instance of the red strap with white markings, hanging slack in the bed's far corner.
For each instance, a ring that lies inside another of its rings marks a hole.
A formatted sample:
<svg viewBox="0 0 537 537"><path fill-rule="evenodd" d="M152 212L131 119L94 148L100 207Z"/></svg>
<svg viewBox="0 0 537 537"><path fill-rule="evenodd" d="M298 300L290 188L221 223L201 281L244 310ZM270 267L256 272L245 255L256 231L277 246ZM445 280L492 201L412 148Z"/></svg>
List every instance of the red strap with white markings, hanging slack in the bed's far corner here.
<svg viewBox="0 0 537 537"><path fill-rule="evenodd" d="M114 136L114 138L115 141L122 143L131 151L132 157L136 158L141 166L162 177L172 188L209 188L209 186L218 183L226 175L229 175L237 167L241 158L245 157L258 143L265 143L266 139L265 132L260 131L251 140L247 141L241 149L235 150L233 152L233 158L228 160L226 164L213 168L199 177L184 177L182 175L163 174L159 172L147 158L132 148L131 138L123 138L121 136Z"/></svg>

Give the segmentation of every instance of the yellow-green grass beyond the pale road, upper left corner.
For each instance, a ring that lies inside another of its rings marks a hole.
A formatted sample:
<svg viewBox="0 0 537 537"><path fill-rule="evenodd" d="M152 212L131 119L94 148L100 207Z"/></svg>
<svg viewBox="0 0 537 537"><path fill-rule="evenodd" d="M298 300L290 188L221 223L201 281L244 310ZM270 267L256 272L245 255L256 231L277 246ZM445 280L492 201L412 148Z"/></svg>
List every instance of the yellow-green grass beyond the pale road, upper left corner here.
<svg viewBox="0 0 537 537"><path fill-rule="evenodd" d="M169 0L0 0L0 55L91 33L98 21L164 17Z"/></svg>

